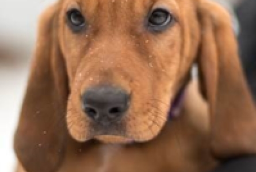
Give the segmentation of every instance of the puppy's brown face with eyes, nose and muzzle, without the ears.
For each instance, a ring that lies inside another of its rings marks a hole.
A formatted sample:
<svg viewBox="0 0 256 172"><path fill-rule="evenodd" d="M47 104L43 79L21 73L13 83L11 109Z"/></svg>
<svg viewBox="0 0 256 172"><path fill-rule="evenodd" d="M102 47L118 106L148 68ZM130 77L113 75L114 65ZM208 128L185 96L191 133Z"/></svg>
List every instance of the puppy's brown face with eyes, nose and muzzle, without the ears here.
<svg viewBox="0 0 256 172"><path fill-rule="evenodd" d="M66 119L74 139L144 142L158 135L198 44L192 11L190 1L61 2L59 39L71 90Z"/></svg>

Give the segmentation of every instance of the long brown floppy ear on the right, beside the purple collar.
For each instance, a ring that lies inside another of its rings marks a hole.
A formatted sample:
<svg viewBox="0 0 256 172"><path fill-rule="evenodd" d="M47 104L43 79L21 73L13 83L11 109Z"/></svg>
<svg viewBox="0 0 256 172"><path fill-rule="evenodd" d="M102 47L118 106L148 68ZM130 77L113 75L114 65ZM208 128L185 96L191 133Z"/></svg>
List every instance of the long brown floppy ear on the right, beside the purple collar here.
<svg viewBox="0 0 256 172"><path fill-rule="evenodd" d="M213 2L198 6L198 65L211 114L211 150L217 158L256 153L256 113L240 67L229 15Z"/></svg>

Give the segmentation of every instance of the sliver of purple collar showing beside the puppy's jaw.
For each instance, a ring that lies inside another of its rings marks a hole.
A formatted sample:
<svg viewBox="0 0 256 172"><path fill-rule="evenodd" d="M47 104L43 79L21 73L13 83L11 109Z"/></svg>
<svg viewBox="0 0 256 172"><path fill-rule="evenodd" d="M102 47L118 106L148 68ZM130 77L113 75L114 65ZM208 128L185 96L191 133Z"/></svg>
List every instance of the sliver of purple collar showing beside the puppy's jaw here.
<svg viewBox="0 0 256 172"><path fill-rule="evenodd" d="M185 89L186 87L182 88L178 94L176 95L173 103L171 104L170 111L169 111L169 120L177 117L181 112L182 104L184 103L185 97Z"/></svg>

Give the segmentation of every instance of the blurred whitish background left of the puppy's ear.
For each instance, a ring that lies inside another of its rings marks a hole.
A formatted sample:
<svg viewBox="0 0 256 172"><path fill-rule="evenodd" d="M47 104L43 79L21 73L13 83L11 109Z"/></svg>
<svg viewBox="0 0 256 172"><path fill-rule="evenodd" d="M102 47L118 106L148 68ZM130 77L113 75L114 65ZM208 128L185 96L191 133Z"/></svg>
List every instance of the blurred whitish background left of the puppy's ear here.
<svg viewBox="0 0 256 172"><path fill-rule="evenodd" d="M13 134L36 41L39 14L55 0L0 0L0 171L12 172Z"/></svg>

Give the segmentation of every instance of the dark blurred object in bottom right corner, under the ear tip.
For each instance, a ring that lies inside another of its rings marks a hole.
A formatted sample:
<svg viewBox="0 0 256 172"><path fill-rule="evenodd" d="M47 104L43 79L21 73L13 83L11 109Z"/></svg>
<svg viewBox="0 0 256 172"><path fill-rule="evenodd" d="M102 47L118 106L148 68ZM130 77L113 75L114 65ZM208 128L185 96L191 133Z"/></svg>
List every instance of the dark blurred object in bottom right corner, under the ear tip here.
<svg viewBox="0 0 256 172"><path fill-rule="evenodd" d="M254 0L253 0L254 1ZM256 156L231 159L211 172L255 172Z"/></svg>

